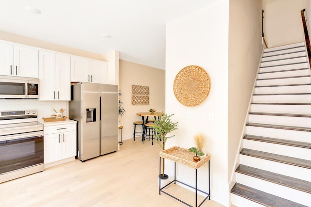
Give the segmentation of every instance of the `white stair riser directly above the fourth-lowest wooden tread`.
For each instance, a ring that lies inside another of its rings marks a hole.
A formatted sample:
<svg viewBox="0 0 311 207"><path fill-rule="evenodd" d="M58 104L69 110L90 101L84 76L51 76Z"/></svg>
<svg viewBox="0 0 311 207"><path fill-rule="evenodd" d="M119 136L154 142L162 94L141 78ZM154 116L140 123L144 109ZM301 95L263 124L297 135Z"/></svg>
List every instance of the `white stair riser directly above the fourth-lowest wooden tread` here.
<svg viewBox="0 0 311 207"><path fill-rule="evenodd" d="M246 126L246 133L249 135L272 137L285 140L293 140L299 142L311 143L310 131L296 131L279 128L253 127Z"/></svg>

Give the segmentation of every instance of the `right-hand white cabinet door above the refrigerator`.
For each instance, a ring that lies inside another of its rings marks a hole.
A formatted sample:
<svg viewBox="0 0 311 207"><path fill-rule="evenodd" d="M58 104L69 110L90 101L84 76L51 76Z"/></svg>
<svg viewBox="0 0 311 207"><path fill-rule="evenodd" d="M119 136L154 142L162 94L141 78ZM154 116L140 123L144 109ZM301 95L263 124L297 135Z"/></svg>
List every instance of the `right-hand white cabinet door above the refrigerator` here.
<svg viewBox="0 0 311 207"><path fill-rule="evenodd" d="M90 75L93 83L107 83L108 63L104 61L90 61Z"/></svg>

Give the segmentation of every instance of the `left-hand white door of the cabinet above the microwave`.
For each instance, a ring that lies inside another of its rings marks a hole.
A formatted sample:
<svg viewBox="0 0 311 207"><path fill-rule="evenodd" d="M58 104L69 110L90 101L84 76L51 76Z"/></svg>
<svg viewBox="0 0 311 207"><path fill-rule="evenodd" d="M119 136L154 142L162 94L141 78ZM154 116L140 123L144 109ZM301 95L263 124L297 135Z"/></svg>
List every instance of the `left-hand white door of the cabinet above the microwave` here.
<svg viewBox="0 0 311 207"><path fill-rule="evenodd" d="M14 76L13 45L0 43L0 75Z"/></svg>

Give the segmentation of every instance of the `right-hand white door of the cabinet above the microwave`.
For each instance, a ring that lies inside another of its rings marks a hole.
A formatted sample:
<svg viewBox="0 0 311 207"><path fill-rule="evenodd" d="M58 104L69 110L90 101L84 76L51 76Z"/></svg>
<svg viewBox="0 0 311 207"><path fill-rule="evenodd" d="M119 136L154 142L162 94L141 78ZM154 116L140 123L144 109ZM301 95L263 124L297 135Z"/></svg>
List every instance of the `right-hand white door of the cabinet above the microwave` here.
<svg viewBox="0 0 311 207"><path fill-rule="evenodd" d="M15 76L39 78L39 51L14 46L14 72Z"/></svg>

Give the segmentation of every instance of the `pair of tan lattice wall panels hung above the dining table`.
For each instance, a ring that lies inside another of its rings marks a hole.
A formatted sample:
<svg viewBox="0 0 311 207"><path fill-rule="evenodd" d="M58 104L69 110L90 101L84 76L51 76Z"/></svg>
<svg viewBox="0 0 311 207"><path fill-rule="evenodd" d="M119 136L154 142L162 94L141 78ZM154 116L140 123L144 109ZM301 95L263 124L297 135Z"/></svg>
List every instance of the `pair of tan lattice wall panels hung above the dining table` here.
<svg viewBox="0 0 311 207"><path fill-rule="evenodd" d="M132 85L132 105L149 105L149 86Z"/></svg>

